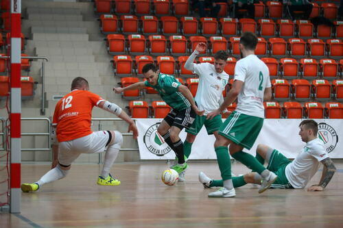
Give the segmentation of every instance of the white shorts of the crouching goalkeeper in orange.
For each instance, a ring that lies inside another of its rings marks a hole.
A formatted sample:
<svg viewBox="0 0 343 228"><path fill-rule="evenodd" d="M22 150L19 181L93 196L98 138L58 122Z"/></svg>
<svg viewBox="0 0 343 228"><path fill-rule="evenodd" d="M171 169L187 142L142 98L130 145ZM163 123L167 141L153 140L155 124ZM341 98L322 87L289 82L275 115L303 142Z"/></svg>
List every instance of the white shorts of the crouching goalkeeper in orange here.
<svg viewBox="0 0 343 228"><path fill-rule="evenodd" d="M81 153L101 153L109 142L108 131L94 131L88 136L58 143L58 162L69 166Z"/></svg>

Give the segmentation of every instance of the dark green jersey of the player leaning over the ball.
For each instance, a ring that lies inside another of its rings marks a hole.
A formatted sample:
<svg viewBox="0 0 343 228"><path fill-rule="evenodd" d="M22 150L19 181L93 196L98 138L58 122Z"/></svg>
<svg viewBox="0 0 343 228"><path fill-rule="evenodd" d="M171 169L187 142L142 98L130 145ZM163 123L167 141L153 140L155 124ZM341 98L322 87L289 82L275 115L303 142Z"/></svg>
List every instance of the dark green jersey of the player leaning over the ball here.
<svg viewBox="0 0 343 228"><path fill-rule="evenodd" d="M178 87L180 85L180 82L178 82L173 75L166 75L163 73L158 74L156 86L152 86L149 81L145 81L145 86L157 90L163 101L174 110L185 110L187 107L191 106L186 97L183 96L181 92L178 92Z"/></svg>

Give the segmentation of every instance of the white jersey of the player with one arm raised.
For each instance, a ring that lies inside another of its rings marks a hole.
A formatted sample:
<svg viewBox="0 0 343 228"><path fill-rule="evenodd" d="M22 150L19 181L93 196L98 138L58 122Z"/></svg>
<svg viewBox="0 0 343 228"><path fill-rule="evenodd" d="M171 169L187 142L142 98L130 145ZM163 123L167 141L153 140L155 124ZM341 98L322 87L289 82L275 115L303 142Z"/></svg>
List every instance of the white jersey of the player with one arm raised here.
<svg viewBox="0 0 343 228"><path fill-rule="evenodd" d="M215 66L209 62L193 64L193 66L193 73L199 75L195 100L199 110L204 110L206 115L220 107L222 92L228 84L228 74L225 71L217 73Z"/></svg>

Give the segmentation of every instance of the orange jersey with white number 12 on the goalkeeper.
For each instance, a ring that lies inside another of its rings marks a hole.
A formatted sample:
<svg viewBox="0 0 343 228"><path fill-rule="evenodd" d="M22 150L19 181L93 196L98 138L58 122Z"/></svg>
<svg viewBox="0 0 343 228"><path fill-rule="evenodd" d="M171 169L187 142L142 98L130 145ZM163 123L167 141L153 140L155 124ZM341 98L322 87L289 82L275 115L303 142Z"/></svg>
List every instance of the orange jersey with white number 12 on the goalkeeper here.
<svg viewBox="0 0 343 228"><path fill-rule="evenodd" d="M53 119L53 125L57 125L58 142L91 134L92 110L101 101L104 101L102 97L86 90L73 90L60 99Z"/></svg>

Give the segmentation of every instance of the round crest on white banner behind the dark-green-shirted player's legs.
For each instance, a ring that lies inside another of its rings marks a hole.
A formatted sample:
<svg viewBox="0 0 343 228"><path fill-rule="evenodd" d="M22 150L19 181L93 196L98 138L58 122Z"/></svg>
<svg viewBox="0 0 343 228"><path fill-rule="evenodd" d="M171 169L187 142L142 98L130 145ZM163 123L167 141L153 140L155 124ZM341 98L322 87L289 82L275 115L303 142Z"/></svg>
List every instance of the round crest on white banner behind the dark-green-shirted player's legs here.
<svg viewBox="0 0 343 228"><path fill-rule="evenodd" d="M171 151L171 148L165 143L163 137L157 132L157 127L160 124L161 123L155 123L150 126L143 137L143 142L145 147L147 147L147 150L157 156L163 156Z"/></svg>

